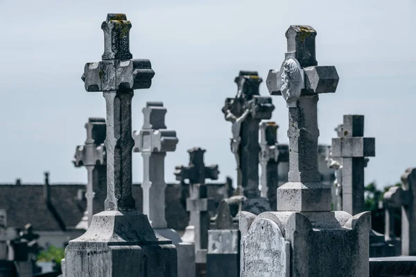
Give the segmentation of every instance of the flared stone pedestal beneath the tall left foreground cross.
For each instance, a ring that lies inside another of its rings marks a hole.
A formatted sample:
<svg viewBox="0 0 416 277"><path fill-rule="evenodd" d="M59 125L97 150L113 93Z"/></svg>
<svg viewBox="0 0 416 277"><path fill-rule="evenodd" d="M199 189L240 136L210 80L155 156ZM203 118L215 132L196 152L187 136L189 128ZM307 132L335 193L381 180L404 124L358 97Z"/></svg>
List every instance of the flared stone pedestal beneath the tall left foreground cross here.
<svg viewBox="0 0 416 277"><path fill-rule="evenodd" d="M177 277L170 240L153 231L136 211L94 215L84 235L65 249L65 277Z"/></svg>

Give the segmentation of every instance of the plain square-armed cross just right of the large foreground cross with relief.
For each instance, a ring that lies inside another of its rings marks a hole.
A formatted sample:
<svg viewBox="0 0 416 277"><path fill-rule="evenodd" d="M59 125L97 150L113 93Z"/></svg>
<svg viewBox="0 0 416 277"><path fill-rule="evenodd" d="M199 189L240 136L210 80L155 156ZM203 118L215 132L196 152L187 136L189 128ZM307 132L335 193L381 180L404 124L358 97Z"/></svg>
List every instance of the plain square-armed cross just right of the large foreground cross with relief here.
<svg viewBox="0 0 416 277"><path fill-rule="evenodd" d="M364 169L375 156L375 139L364 137L364 116L345 115L341 135L332 139L332 157L342 159L343 211L356 215L364 211Z"/></svg>

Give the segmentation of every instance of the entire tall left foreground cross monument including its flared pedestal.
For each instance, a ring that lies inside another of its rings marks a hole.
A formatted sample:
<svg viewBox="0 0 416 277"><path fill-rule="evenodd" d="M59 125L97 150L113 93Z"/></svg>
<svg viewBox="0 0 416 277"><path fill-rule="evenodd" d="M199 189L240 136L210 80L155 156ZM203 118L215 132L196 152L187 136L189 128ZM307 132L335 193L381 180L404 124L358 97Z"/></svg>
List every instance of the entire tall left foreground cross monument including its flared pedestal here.
<svg viewBox="0 0 416 277"><path fill-rule="evenodd" d="M130 21L108 14L101 62L85 65L87 91L103 91L107 107L105 211L65 249L65 277L177 276L176 249L155 233L148 217L135 211L132 197L132 96L148 89L155 72L149 60L132 60Z"/></svg>

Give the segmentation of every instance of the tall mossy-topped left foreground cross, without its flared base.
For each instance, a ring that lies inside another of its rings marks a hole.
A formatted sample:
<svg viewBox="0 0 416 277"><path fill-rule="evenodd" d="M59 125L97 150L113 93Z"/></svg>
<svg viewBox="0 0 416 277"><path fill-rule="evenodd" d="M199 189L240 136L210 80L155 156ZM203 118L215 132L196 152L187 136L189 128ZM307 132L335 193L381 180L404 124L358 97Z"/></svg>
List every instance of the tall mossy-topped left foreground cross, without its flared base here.
<svg viewBox="0 0 416 277"><path fill-rule="evenodd" d="M101 62L85 64L87 91L103 91L107 105L107 199L105 211L135 210L132 197L132 97L134 89L148 89L155 75L149 60L132 60L130 28L125 15L109 14Z"/></svg>

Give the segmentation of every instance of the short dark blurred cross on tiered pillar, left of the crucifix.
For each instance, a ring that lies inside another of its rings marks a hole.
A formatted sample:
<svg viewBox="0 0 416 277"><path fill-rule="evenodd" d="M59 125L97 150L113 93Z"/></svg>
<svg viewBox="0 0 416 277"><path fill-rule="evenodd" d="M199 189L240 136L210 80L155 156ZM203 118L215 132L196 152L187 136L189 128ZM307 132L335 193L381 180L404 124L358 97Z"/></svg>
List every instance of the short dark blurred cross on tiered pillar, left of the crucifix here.
<svg viewBox="0 0 416 277"><path fill-rule="evenodd" d="M177 166L177 181L189 180L189 198L187 211L190 213L189 226L182 235L182 241L195 244L197 276L204 275L207 263L208 211L214 204L208 198L205 179L218 179L218 165L205 166L202 148L192 148L189 152L189 166Z"/></svg>

